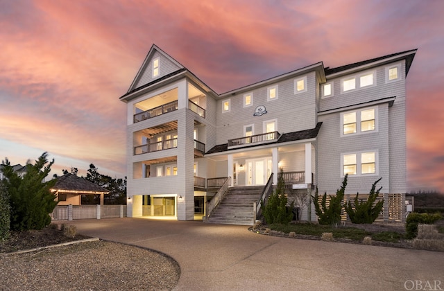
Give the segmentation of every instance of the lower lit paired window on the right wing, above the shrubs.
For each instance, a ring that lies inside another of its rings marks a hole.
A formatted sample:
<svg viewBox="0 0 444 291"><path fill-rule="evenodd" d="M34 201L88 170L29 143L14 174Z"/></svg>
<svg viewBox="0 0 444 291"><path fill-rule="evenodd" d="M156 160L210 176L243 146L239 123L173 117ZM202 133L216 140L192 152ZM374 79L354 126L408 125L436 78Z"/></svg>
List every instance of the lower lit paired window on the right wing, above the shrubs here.
<svg viewBox="0 0 444 291"><path fill-rule="evenodd" d="M341 155L342 176L377 174L377 151L353 152Z"/></svg>

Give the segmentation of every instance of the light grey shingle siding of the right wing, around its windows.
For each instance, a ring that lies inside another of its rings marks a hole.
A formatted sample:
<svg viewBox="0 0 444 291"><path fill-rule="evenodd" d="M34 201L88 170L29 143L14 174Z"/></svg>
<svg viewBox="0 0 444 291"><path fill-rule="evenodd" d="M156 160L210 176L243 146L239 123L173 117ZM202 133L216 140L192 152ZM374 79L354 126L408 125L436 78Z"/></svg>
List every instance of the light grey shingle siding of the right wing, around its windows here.
<svg viewBox="0 0 444 291"><path fill-rule="evenodd" d="M341 113L319 116L323 121L318 135L318 188L322 193L334 193L341 186L341 153L377 150L377 175L349 176L347 193L368 193L371 184L378 183L382 193L404 193L405 189L405 80L385 82L385 66L378 67L375 87L341 94L339 80L334 79L334 96L321 99L321 110L334 109L395 96L393 107L377 106L377 132L350 134L341 137ZM404 68L404 66L403 66ZM402 73L404 76L404 73ZM365 105L362 105L365 107ZM344 109L347 110L347 109Z"/></svg>

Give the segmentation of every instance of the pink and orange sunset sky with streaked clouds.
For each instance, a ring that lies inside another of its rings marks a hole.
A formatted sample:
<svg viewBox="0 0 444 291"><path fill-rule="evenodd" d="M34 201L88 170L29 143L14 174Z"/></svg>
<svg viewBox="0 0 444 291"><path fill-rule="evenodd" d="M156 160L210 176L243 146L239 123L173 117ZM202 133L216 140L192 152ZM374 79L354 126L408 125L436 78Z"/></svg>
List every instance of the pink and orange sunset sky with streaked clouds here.
<svg viewBox="0 0 444 291"><path fill-rule="evenodd" d="M444 1L0 0L0 159L126 175L126 93L157 44L217 93L418 48L409 191L444 192ZM340 183L340 181L339 181Z"/></svg>

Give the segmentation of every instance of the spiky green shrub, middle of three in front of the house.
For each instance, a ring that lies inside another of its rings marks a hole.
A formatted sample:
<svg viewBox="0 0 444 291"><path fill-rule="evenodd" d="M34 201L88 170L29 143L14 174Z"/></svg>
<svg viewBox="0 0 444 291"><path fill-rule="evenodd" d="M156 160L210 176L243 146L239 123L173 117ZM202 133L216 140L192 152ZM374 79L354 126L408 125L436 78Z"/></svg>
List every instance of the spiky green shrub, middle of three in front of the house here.
<svg viewBox="0 0 444 291"><path fill-rule="evenodd" d="M319 203L318 189L312 196L314 200L314 208L316 209L316 215L318 215L319 224L337 225L341 222L341 209L342 201L344 198L345 186L347 186L347 177L345 175L342 186L336 191L336 196L330 196L330 204L327 206L327 193L324 193L321 204Z"/></svg>

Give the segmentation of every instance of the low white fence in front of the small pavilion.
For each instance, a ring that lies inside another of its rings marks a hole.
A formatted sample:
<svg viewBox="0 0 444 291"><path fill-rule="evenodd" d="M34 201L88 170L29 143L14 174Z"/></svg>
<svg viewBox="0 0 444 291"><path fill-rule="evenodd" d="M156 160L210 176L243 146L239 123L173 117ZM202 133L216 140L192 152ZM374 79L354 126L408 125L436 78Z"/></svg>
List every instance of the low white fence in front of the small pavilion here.
<svg viewBox="0 0 444 291"><path fill-rule="evenodd" d="M101 219L126 217L126 205L58 205L51 220Z"/></svg>

